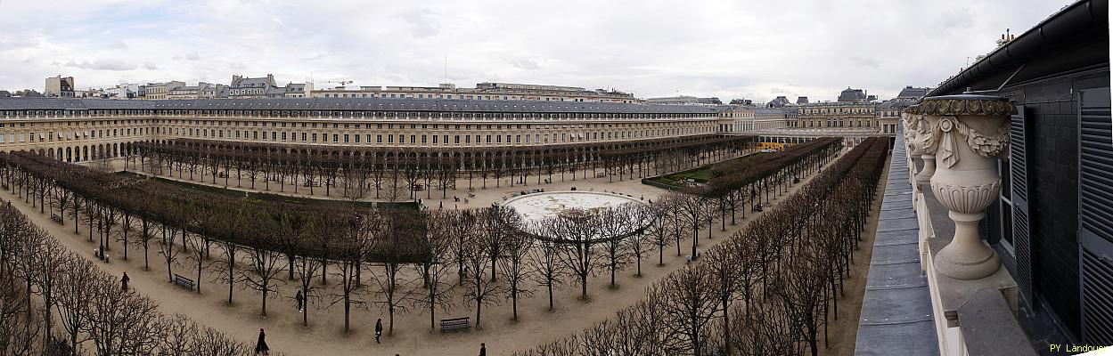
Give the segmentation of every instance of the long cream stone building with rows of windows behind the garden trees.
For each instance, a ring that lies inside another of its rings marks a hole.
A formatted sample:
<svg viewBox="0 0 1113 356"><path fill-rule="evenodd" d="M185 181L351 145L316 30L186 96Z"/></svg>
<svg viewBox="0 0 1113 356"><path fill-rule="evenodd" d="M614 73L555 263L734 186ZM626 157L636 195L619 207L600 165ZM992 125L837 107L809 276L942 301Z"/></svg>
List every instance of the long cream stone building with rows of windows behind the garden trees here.
<svg viewBox="0 0 1113 356"><path fill-rule="evenodd" d="M66 161L177 138L452 149L623 142L715 134L712 108L403 99L0 100L0 150Z"/></svg>

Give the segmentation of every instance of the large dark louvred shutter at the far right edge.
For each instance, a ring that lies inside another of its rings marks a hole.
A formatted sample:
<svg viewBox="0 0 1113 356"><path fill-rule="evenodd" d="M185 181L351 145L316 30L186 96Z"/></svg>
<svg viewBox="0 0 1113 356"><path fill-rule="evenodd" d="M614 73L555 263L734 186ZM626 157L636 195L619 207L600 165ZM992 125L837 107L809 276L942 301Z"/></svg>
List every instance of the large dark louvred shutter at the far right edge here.
<svg viewBox="0 0 1113 356"><path fill-rule="evenodd" d="M1082 339L1113 344L1113 139L1110 89L1078 96Z"/></svg>

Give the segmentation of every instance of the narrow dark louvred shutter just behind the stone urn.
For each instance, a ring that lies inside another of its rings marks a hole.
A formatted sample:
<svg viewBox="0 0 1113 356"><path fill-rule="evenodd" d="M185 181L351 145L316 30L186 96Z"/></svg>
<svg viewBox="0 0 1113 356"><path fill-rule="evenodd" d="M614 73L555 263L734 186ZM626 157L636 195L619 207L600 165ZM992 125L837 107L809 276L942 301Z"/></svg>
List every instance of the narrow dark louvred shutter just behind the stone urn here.
<svg viewBox="0 0 1113 356"><path fill-rule="evenodd" d="M1028 237L1028 155L1024 106L1016 106L1008 127L1008 164L1013 191L1013 251L1016 254L1016 285L1023 299L1035 308L1032 300L1032 243Z"/></svg>

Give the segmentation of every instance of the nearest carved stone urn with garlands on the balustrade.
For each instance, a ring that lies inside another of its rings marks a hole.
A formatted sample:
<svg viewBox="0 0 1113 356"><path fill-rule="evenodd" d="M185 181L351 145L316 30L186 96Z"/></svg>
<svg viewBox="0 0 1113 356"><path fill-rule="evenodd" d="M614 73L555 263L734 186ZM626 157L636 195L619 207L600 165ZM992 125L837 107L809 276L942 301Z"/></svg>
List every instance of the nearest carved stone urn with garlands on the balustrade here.
<svg viewBox="0 0 1113 356"><path fill-rule="evenodd" d="M977 224L1001 190L996 159L1007 151L1008 116L1016 108L1004 98L962 95L925 98L920 112L922 125L929 125L927 138L920 137L924 152L938 159L932 192L955 221L955 236L936 254L935 267L956 279L993 275L1001 260L978 237Z"/></svg>

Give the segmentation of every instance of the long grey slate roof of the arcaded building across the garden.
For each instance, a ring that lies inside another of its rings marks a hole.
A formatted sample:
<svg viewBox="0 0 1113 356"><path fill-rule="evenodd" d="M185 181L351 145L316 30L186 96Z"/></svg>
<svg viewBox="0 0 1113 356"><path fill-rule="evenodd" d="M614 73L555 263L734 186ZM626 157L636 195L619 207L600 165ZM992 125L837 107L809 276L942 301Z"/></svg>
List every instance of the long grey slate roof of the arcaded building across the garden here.
<svg viewBox="0 0 1113 356"><path fill-rule="evenodd" d="M353 110L471 112L603 112L716 113L706 106L640 105L532 100L267 98L193 100L108 100L66 98L2 98L0 110L158 109L158 110Z"/></svg>

